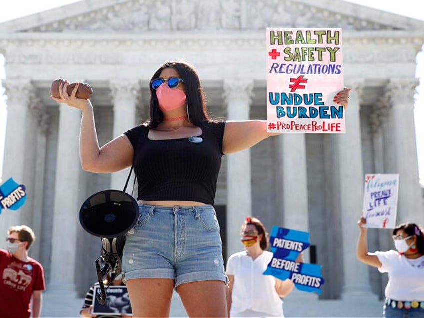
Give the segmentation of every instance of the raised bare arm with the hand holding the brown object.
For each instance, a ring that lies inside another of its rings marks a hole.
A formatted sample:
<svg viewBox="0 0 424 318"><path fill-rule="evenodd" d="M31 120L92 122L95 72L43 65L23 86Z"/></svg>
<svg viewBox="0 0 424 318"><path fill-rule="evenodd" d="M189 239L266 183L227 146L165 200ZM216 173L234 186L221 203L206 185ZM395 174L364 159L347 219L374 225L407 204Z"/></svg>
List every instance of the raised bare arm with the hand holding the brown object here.
<svg viewBox="0 0 424 318"><path fill-rule="evenodd" d="M60 84L60 98L51 98L59 103L82 110L81 130L79 134L79 156L82 168L97 173L111 173L122 170L132 164L134 149L125 135L121 135L100 148L95 129L94 111L90 100L76 98L79 84L72 94L67 93L67 81Z"/></svg>

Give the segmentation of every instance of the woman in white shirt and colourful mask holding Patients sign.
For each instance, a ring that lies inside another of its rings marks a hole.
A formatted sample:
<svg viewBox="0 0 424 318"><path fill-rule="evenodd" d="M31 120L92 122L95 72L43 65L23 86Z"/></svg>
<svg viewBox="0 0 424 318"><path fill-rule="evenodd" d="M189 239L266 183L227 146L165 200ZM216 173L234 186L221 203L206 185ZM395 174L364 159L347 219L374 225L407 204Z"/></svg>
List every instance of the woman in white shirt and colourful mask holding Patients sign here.
<svg viewBox="0 0 424 318"><path fill-rule="evenodd" d="M282 300L293 290L290 279L263 275L273 254L266 250L268 233L262 222L247 217L241 226L245 250L231 255L226 265L228 315L231 317L283 317ZM297 258L302 262L302 254Z"/></svg>

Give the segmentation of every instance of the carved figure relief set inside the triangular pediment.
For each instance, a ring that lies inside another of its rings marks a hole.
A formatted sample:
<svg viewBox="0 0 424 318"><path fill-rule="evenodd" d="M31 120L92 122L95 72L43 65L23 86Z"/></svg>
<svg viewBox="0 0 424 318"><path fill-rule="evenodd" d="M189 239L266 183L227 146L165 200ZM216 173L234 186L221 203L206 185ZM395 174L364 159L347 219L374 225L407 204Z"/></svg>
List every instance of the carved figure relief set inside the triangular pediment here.
<svg viewBox="0 0 424 318"><path fill-rule="evenodd" d="M305 5L295 0L128 0L29 32L139 32L165 30L261 30L265 27L392 29L390 25Z"/></svg>

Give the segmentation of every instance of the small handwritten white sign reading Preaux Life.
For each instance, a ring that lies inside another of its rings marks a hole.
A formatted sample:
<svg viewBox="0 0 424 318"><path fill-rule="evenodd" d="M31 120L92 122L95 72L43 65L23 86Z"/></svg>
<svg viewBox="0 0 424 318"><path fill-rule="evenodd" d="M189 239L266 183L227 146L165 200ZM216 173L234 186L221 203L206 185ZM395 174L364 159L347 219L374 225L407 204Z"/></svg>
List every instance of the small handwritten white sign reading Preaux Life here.
<svg viewBox="0 0 424 318"><path fill-rule="evenodd" d="M363 193L364 227L395 228L399 174L366 174Z"/></svg>

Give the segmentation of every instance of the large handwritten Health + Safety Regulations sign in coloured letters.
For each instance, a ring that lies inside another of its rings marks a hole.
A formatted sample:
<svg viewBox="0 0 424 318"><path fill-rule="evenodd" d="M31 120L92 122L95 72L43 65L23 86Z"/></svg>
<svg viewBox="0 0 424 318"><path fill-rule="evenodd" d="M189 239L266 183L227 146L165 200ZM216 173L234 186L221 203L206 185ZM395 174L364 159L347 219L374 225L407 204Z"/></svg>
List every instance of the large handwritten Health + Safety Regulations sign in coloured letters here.
<svg viewBox="0 0 424 318"><path fill-rule="evenodd" d="M268 132L344 133L340 28L267 28Z"/></svg>

